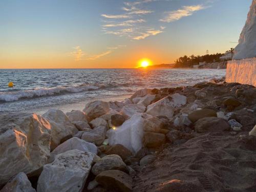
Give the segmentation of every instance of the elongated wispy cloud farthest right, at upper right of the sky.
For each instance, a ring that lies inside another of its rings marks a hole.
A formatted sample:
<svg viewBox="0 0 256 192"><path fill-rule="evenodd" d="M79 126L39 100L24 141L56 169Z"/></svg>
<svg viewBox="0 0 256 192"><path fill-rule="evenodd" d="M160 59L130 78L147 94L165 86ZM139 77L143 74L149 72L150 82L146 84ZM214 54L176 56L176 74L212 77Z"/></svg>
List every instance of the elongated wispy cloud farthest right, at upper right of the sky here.
<svg viewBox="0 0 256 192"><path fill-rule="evenodd" d="M175 20L179 20L182 17L190 16L194 12L206 9L203 5L195 5L195 6L183 6L182 9L178 9L176 11L170 11L167 13L165 18L160 19L161 22L174 22Z"/></svg>

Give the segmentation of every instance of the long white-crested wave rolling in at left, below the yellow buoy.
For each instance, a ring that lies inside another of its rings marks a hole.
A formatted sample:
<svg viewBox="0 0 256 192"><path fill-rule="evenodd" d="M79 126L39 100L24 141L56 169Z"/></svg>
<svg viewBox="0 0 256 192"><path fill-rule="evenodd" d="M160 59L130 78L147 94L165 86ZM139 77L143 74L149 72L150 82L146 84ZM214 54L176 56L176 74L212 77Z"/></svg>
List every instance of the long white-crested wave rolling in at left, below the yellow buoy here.
<svg viewBox="0 0 256 192"><path fill-rule="evenodd" d="M81 85L72 87L56 87L56 88L42 88L33 89L26 91L14 91L14 92L4 92L0 93L0 101L17 101L19 99L42 97L42 96L52 96L67 93L78 93L83 91L94 91L98 90L100 87Z"/></svg>

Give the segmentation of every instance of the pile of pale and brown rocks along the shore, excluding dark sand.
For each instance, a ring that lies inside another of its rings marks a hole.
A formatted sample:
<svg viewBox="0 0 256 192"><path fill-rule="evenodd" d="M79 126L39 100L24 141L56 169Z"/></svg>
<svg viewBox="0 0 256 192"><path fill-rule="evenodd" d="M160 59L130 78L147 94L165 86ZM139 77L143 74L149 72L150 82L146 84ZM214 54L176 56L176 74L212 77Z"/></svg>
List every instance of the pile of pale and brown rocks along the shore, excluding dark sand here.
<svg viewBox="0 0 256 192"><path fill-rule="evenodd" d="M122 102L92 101L67 114L2 115L0 191L132 191L133 176L166 142L251 130L255 95L252 86L211 81L143 89Z"/></svg>

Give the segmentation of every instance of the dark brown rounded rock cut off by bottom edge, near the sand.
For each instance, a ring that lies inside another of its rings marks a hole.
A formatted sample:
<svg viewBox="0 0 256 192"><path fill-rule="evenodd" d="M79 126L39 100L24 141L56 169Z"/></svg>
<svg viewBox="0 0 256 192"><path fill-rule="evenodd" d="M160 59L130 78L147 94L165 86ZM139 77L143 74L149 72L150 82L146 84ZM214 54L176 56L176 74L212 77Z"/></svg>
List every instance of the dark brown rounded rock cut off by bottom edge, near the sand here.
<svg viewBox="0 0 256 192"><path fill-rule="evenodd" d="M133 190L132 178L120 172L120 170L106 170L96 176L96 181L108 189L115 189L122 192L131 192Z"/></svg>

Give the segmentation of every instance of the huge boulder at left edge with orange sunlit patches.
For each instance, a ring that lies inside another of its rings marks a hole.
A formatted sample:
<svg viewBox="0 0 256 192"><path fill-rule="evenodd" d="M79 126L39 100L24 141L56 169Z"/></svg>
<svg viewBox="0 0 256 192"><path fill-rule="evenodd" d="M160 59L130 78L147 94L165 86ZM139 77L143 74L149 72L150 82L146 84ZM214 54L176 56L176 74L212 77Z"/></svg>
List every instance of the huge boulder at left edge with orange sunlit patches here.
<svg viewBox="0 0 256 192"><path fill-rule="evenodd" d="M0 116L0 185L42 167L50 156L51 126L36 114Z"/></svg>

